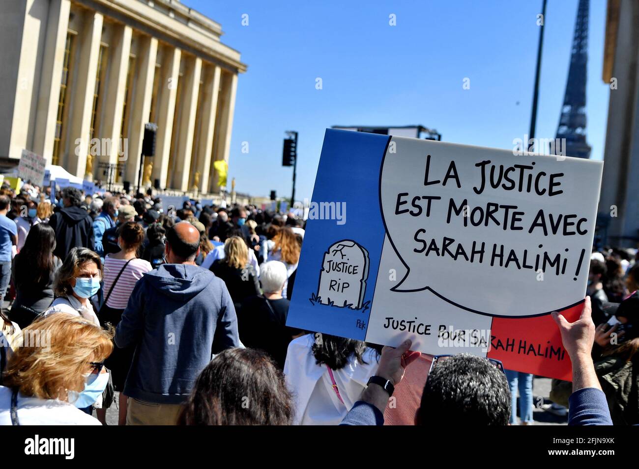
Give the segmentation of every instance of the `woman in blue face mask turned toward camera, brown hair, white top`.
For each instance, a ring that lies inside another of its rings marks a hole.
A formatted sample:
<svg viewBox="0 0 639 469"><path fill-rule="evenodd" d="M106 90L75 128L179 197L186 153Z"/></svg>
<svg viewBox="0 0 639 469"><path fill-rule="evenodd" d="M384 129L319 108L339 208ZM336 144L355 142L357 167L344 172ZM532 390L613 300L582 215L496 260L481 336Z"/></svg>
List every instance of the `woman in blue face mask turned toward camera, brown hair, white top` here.
<svg viewBox="0 0 639 469"><path fill-rule="evenodd" d="M71 313L100 325L91 297L100 290L102 262L91 249L73 248L66 256L56 276L51 308L43 314Z"/></svg>

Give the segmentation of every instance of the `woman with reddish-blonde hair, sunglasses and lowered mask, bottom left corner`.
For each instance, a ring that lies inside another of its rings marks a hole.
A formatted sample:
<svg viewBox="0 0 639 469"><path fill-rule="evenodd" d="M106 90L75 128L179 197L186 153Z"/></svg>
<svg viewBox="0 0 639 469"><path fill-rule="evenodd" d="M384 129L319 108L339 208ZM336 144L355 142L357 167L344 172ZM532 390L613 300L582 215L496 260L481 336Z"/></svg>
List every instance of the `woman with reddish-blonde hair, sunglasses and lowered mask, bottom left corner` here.
<svg viewBox="0 0 639 469"><path fill-rule="evenodd" d="M80 408L102 396L112 331L58 313L20 334L0 386L0 425L99 425Z"/></svg>

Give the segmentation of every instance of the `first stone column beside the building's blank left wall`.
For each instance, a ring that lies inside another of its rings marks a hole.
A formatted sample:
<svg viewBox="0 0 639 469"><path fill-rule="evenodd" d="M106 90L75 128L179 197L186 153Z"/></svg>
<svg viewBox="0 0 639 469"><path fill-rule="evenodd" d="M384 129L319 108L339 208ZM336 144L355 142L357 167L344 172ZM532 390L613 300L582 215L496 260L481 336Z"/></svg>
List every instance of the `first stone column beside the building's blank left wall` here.
<svg viewBox="0 0 639 469"><path fill-rule="evenodd" d="M56 134L56 117L65 59L66 31L69 25L69 0L51 0L47 37L42 57L42 76L36 111L36 126L33 136L33 151L51 163Z"/></svg>

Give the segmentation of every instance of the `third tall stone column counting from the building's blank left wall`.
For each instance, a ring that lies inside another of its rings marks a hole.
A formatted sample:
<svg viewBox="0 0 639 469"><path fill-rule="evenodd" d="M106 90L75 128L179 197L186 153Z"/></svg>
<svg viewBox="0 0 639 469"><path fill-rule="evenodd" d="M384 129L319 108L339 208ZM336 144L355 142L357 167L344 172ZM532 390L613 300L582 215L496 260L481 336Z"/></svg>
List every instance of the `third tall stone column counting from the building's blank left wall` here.
<svg viewBox="0 0 639 469"><path fill-rule="evenodd" d="M105 84L104 112L101 116L100 135L108 138L108 154L100 154L102 163L118 163L119 138L122 126L125 89L127 87L128 59L131 53L132 29L124 24L115 25L109 45L109 77ZM104 58L103 58L104 60ZM104 146L104 145L103 145ZM125 158L124 156L122 158ZM94 169L97 165L94 164Z"/></svg>

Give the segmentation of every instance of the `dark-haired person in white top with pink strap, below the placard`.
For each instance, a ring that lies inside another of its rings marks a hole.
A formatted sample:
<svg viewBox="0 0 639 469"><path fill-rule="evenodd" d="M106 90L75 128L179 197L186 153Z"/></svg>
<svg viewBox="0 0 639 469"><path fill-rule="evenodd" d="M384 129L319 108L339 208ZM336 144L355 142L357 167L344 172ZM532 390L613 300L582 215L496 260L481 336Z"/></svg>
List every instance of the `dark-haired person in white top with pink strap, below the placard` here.
<svg viewBox="0 0 639 469"><path fill-rule="evenodd" d="M291 341L284 363L295 425L339 425L374 376L379 354L364 342L328 334Z"/></svg>

